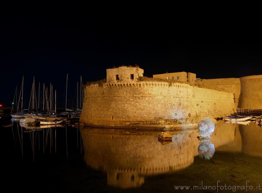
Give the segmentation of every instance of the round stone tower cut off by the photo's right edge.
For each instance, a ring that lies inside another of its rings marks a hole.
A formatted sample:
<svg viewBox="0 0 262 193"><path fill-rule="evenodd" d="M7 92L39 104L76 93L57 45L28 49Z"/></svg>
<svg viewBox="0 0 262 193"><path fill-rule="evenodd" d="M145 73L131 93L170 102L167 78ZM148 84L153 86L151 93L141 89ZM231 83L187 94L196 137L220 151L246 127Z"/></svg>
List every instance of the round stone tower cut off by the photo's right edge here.
<svg viewBox="0 0 262 193"><path fill-rule="evenodd" d="M262 75L241 77L240 82L238 108L262 109Z"/></svg>

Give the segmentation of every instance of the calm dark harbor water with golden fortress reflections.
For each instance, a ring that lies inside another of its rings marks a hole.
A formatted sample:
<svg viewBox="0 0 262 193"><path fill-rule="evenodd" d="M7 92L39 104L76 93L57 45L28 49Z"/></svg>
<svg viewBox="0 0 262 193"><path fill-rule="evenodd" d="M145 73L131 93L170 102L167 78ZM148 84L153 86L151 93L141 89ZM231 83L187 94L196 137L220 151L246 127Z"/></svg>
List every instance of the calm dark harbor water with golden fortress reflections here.
<svg viewBox="0 0 262 193"><path fill-rule="evenodd" d="M0 125L11 122L0 117ZM0 131L1 187L10 192L262 191L262 128L254 122L218 121L208 141L197 129L170 131L172 142L159 142L159 130L12 122ZM207 144L209 160L198 156Z"/></svg>

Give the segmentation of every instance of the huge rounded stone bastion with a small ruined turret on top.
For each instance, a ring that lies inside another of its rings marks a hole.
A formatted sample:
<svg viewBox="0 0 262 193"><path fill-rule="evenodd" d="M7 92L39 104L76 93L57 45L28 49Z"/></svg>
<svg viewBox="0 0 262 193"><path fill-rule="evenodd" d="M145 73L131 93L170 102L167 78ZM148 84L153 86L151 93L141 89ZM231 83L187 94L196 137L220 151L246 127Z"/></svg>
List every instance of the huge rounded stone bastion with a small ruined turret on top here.
<svg viewBox="0 0 262 193"><path fill-rule="evenodd" d="M205 88L205 84L200 88L182 81L155 81L150 78L141 80L144 70L138 67L122 66L107 69L106 72L106 82L94 82L84 86L85 96L80 121L86 125L136 127L143 121L158 117L221 117L236 112L236 94L234 98L234 93L227 90L224 92L214 88L208 89ZM243 79L243 82L245 80ZM252 81L259 81L261 87L261 77ZM200 80L201 82L203 83L203 80ZM244 88L248 88L248 85L244 84ZM243 94L243 97L249 97L250 100L253 97L252 92L244 91ZM259 97L259 92L257 95L259 103L261 96ZM240 97L241 93L238 100Z"/></svg>

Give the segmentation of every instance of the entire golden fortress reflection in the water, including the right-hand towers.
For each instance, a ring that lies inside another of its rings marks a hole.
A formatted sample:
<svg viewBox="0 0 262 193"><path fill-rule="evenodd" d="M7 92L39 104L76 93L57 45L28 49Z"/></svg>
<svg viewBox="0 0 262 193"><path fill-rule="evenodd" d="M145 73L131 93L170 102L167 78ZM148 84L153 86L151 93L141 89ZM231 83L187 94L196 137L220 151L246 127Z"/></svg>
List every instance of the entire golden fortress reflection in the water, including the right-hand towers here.
<svg viewBox="0 0 262 193"><path fill-rule="evenodd" d="M247 126L219 121L210 141L202 142L197 138L197 128L169 131L172 142L162 144L157 140L161 131L105 128L81 128L80 131L85 163L95 170L106 172L107 185L127 189L140 187L145 177L174 173L189 167L199 156L199 146L209 148L204 155L206 162L214 158L215 148L216 152L261 156L262 148L258 145L262 142L261 129L251 134L244 127Z"/></svg>

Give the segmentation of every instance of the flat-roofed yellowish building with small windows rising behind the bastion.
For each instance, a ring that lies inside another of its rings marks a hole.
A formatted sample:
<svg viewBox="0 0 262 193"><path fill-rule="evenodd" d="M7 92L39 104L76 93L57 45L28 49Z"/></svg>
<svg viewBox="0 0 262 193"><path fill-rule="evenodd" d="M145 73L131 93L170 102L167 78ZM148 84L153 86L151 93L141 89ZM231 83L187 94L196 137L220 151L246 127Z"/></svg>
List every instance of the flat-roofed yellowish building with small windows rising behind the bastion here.
<svg viewBox="0 0 262 193"><path fill-rule="evenodd" d="M172 80L180 80L186 82L195 82L196 74L192 72L172 72L172 73L164 73L164 74L155 74L153 78L160 79L172 79Z"/></svg>

